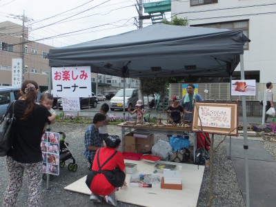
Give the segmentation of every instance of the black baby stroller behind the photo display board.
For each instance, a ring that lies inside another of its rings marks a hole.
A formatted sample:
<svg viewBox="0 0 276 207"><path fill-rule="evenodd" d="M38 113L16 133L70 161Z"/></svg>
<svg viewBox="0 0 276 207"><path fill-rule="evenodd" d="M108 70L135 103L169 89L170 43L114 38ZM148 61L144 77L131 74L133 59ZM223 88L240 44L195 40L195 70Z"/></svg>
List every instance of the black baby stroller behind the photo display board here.
<svg viewBox="0 0 276 207"><path fill-rule="evenodd" d="M59 167L63 168L65 166L65 161L68 159L72 159L72 162L68 164L68 170L76 172L77 171L77 164L75 158L72 156L68 146L69 144L64 141L66 138L66 134L64 132L59 133Z"/></svg>

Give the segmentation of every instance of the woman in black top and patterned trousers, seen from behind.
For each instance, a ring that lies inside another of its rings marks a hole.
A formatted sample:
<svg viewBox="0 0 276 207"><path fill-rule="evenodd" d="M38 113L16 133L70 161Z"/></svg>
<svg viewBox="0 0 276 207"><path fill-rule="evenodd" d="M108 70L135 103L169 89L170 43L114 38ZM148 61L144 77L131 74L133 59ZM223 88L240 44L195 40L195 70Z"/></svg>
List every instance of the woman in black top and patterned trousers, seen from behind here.
<svg viewBox="0 0 276 207"><path fill-rule="evenodd" d="M51 116L47 108L35 103L39 86L27 80L22 83L21 97L14 103L14 137L7 156L9 182L3 206L15 206L24 171L28 176L28 206L41 206L42 152L41 137ZM12 110L12 109L10 109Z"/></svg>

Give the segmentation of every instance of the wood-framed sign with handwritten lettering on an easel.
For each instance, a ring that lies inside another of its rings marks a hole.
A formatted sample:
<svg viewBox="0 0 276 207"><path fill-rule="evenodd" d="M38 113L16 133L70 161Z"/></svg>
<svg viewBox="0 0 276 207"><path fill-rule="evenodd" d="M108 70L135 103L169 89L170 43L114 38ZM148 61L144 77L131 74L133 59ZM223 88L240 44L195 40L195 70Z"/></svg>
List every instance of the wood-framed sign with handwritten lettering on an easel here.
<svg viewBox="0 0 276 207"><path fill-rule="evenodd" d="M193 114L193 132L237 136L237 102L197 102Z"/></svg>

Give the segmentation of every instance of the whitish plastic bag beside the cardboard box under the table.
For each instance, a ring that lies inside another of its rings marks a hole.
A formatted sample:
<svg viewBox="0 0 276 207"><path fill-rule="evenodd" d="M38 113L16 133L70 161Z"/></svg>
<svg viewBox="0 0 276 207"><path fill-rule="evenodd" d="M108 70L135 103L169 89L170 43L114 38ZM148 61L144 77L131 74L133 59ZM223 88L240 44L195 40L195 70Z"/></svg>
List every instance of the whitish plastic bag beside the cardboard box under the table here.
<svg viewBox="0 0 276 207"><path fill-rule="evenodd" d="M168 160L168 155L172 152L172 146L167 141L159 139L157 144L151 148L152 155L159 156L164 160Z"/></svg>

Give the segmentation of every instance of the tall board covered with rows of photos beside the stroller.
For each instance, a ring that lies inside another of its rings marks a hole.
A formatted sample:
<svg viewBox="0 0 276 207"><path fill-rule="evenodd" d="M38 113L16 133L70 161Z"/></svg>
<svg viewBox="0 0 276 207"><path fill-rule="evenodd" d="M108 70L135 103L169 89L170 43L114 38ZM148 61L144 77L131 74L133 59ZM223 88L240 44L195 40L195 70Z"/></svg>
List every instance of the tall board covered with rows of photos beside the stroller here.
<svg viewBox="0 0 276 207"><path fill-rule="evenodd" d="M59 175L59 133L45 132L41 137L42 172Z"/></svg>

